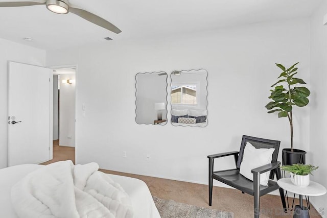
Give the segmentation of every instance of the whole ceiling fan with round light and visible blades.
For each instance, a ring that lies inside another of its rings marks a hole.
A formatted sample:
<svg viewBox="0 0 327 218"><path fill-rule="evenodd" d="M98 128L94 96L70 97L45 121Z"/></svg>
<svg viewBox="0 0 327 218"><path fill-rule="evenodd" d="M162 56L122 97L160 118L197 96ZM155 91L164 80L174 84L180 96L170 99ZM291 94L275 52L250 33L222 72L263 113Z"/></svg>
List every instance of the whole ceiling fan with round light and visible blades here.
<svg viewBox="0 0 327 218"><path fill-rule="evenodd" d="M33 5L45 5L46 8L57 14L67 14L68 12L71 12L114 33L118 34L122 32L120 29L118 29L109 21L95 14L92 14L88 11L85 11L83 9L73 7L71 4L69 4L68 0L33 0L27 2L0 2L0 7L24 7L24 6L33 6Z"/></svg>

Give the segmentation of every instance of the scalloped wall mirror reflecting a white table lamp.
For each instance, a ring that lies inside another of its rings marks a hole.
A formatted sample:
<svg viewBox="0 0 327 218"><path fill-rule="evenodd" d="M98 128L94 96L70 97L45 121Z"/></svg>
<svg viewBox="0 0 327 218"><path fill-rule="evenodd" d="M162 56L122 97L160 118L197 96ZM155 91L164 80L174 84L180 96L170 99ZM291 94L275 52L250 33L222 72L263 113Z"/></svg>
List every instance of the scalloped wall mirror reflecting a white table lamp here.
<svg viewBox="0 0 327 218"><path fill-rule="evenodd" d="M135 76L137 124L167 124L167 72L139 72Z"/></svg>

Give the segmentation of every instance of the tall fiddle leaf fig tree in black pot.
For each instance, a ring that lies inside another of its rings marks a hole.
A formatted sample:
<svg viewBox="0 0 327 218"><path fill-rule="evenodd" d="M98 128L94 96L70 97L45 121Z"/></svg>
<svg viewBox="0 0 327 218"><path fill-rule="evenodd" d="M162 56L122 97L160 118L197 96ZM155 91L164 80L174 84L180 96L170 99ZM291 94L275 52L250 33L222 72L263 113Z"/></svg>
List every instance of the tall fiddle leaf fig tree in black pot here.
<svg viewBox="0 0 327 218"><path fill-rule="evenodd" d="M305 107L309 104L308 96L310 91L303 86L295 86L297 84L306 84L300 78L294 77L297 74L296 65L299 62L293 64L287 68L282 64L276 66L282 69L281 75L278 77L278 81L274 83L270 90L269 102L265 107L269 110L268 113L278 113L278 117L287 117L290 123L291 132L291 148L283 149L283 165L292 165L296 163L306 162L306 151L294 149L293 145L293 114L294 107Z"/></svg>

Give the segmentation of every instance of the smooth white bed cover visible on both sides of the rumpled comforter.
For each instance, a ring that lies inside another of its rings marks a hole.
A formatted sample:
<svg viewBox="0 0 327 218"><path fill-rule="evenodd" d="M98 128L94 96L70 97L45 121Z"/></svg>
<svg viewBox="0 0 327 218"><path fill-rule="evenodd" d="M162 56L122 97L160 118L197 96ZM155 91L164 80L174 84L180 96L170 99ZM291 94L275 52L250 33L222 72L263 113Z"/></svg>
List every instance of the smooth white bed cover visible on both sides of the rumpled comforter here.
<svg viewBox="0 0 327 218"><path fill-rule="evenodd" d="M0 217L18 217L11 203L11 187L30 172L43 167L37 164L23 164L0 169ZM109 175L109 174L108 174ZM138 179L109 175L128 194L134 217L160 217L147 185Z"/></svg>

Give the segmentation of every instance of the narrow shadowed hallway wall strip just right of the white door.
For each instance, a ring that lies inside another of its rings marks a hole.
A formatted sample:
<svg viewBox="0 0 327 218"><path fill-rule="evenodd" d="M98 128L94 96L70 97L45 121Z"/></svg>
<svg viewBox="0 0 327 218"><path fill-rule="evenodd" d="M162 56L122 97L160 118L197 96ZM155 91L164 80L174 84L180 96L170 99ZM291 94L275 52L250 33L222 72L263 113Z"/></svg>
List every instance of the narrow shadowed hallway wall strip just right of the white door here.
<svg viewBox="0 0 327 218"><path fill-rule="evenodd" d="M53 140L59 139L58 75L53 76Z"/></svg>

